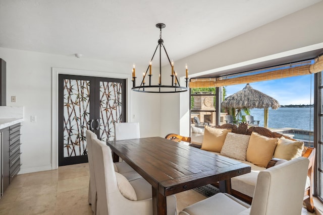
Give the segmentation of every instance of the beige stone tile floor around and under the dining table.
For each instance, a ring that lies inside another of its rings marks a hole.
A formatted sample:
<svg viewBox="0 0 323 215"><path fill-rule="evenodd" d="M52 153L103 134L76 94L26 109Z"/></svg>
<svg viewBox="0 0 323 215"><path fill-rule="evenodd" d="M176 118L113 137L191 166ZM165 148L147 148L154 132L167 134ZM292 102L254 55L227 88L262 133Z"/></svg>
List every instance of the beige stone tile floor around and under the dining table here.
<svg viewBox="0 0 323 215"><path fill-rule="evenodd" d="M93 214L87 202L88 185L87 164L21 174L0 199L0 214ZM194 190L178 193L176 197L178 211L205 198ZM302 214L312 213L304 209Z"/></svg>

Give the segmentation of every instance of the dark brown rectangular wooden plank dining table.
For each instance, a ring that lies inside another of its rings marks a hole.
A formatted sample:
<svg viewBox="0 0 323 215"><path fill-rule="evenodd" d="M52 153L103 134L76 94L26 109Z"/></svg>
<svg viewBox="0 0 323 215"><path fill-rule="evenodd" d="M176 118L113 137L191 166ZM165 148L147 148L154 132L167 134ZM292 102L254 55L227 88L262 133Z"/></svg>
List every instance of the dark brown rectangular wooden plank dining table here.
<svg viewBox="0 0 323 215"><path fill-rule="evenodd" d="M249 173L241 162L163 137L107 141L114 154L136 170L152 187L153 214L167 214L166 197L219 182L225 192L230 178Z"/></svg>

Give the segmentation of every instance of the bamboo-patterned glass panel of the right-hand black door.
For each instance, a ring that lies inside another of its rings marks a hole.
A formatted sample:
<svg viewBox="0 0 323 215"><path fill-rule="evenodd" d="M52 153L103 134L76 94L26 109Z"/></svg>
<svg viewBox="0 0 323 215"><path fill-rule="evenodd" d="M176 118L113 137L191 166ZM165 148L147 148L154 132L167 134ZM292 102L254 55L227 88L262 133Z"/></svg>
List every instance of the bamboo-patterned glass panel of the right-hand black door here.
<svg viewBox="0 0 323 215"><path fill-rule="evenodd" d="M115 122L122 122L122 84L100 82L100 139L113 140Z"/></svg>

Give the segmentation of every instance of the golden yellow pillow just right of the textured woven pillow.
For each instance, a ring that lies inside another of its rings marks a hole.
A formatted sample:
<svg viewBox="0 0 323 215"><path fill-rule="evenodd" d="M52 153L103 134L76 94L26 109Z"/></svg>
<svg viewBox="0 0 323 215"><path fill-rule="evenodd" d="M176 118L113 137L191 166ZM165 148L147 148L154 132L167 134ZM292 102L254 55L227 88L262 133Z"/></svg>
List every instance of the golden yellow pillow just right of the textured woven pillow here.
<svg viewBox="0 0 323 215"><path fill-rule="evenodd" d="M249 139L246 161L259 167L266 167L273 158L278 139L252 132Z"/></svg>

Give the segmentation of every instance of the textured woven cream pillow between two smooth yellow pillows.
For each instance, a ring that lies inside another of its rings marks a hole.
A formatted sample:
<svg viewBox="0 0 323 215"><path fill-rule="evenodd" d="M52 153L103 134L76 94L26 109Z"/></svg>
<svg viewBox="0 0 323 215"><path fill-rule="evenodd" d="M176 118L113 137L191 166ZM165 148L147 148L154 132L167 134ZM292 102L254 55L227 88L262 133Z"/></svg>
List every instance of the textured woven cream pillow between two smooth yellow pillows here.
<svg viewBox="0 0 323 215"><path fill-rule="evenodd" d="M250 135L228 132L221 155L245 161L249 139Z"/></svg>

